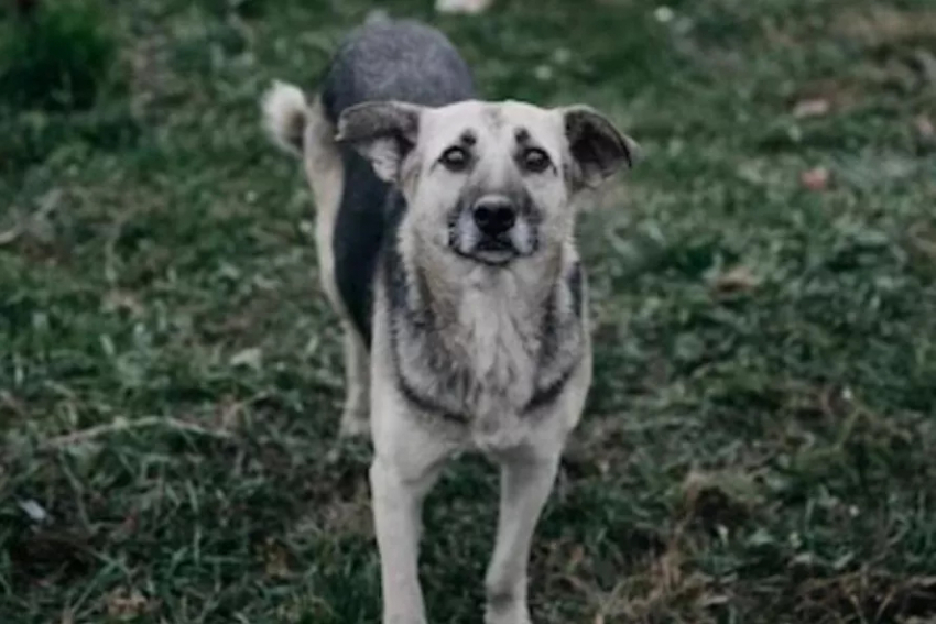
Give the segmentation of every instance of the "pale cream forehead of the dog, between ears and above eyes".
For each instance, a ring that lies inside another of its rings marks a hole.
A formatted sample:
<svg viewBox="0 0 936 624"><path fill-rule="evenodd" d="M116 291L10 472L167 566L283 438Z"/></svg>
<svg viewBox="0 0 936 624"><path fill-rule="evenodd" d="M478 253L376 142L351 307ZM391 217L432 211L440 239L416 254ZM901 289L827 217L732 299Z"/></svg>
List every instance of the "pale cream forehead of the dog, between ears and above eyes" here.
<svg viewBox="0 0 936 624"><path fill-rule="evenodd" d="M467 138L504 146L531 141L558 150L562 141L562 122L555 111L516 101L466 101L429 109L422 124L429 147Z"/></svg>

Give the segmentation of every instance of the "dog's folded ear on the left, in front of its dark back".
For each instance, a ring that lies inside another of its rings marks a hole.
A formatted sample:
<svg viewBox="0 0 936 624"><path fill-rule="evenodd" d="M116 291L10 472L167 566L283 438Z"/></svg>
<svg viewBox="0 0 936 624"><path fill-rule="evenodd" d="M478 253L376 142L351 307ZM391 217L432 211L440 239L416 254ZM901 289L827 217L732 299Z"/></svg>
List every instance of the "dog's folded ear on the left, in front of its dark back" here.
<svg viewBox="0 0 936 624"><path fill-rule="evenodd" d="M364 102L338 119L335 140L370 161L381 179L396 184L403 158L416 145L422 107L404 102Z"/></svg>

